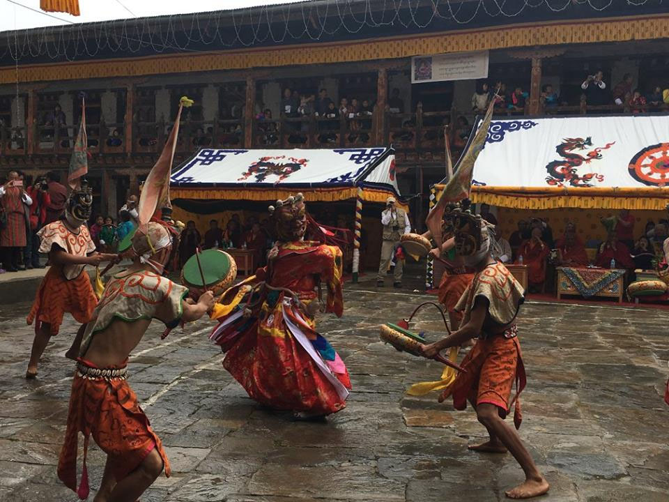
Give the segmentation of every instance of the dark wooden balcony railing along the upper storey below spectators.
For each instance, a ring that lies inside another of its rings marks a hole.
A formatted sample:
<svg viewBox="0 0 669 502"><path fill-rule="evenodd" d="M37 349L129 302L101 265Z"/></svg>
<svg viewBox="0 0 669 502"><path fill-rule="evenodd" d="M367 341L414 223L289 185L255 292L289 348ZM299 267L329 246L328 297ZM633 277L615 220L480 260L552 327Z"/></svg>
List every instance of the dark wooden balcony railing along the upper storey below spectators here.
<svg viewBox="0 0 669 502"><path fill-rule="evenodd" d="M669 112L669 105L645 105L644 107L587 105L582 100L579 105L548 106L541 102L541 115L578 114L620 114L620 113ZM465 116L468 125L459 126L459 116ZM449 109L443 112L424 112L418 105L413 113L391 113L375 110L373 114L346 114L336 117L285 117L279 119L254 118L250 122L252 131L245 134L245 119L219 119L208 121L183 121L176 151L190 155L201 147L209 148L275 148L275 149L318 149L355 148L387 144L409 155L422 158L443 158L445 151L445 130L454 156L466 144L466 135L472 126L474 114ZM527 109L495 109L498 118L522 118L528 116ZM157 154L167 140L173 123L164 121L132 123L132 141L126 144L124 131L126 123L88 124L88 148L93 154L130 155L132 153ZM72 151L78 126L37 124L22 127L0 126L0 155L16 157L21 155L61 154ZM30 133L30 134L29 134ZM250 144L245 144L250 137ZM29 141L31 138L31 141Z"/></svg>

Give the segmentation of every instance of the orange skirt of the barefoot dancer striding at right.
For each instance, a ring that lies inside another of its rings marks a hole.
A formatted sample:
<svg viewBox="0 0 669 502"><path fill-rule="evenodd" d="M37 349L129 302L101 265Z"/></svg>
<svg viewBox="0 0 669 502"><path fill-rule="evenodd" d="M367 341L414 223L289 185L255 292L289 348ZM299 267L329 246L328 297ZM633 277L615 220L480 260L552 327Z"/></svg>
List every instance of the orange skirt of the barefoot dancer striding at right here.
<svg viewBox="0 0 669 502"><path fill-rule="evenodd" d="M509 333L510 337L505 336ZM521 414L520 395L527 377L521 354L521 344L515 336L515 326L505 334L494 335L477 340L476 344L462 360L460 365L467 370L459 373L455 381L444 390L442 400L453 395L455 409L467 407L467 400L475 404L489 403L498 407L500 417L506 418L513 402L514 424L516 429L523 420ZM509 401L516 383L516 397Z"/></svg>

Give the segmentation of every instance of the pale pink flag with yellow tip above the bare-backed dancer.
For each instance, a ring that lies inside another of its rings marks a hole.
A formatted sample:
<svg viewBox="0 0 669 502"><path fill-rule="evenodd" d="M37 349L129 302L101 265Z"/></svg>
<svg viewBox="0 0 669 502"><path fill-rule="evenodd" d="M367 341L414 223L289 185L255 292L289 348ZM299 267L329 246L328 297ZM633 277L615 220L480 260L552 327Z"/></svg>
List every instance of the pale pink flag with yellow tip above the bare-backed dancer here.
<svg viewBox="0 0 669 502"><path fill-rule="evenodd" d="M174 150L176 149L176 139L179 134L179 121L181 119L181 110L183 107L190 107L193 102L185 96L179 102L179 111L176 114L174 127L169 133L167 142L165 143L162 153L157 162L151 169L151 172L146 176L146 181L141 187L141 194L139 195L139 208L137 213L137 222L139 227L146 225L157 208L169 207L172 204L169 200L169 176L172 172L172 161L174 160Z"/></svg>

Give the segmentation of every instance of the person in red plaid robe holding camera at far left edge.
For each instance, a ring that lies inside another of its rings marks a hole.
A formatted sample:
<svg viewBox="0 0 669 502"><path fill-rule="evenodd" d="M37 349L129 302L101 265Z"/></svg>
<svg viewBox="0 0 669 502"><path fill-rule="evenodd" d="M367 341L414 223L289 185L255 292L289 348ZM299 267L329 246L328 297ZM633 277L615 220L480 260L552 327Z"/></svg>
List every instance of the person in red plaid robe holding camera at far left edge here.
<svg viewBox="0 0 669 502"><path fill-rule="evenodd" d="M0 186L0 247L8 272L19 269L21 250L26 247L26 206L31 204L23 180L16 171L10 172L7 183Z"/></svg>

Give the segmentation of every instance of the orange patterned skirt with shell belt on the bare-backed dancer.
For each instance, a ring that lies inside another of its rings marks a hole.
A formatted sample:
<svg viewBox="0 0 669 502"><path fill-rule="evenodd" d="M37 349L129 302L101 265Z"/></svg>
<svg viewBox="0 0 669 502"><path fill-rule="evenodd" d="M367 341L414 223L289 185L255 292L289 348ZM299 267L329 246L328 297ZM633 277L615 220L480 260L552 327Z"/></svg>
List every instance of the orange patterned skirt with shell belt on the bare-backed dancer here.
<svg viewBox="0 0 669 502"><path fill-rule="evenodd" d="M84 434L84 461L82 480L77 490L77 439ZM98 368L79 359L72 381L70 411L65 442L58 462L58 477L80 499L86 499L89 480L86 470L86 452L89 436L114 464L116 480L122 480L137 469L154 448L164 462L165 476L169 478L169 460L137 403L137 395L125 379L125 365Z"/></svg>

